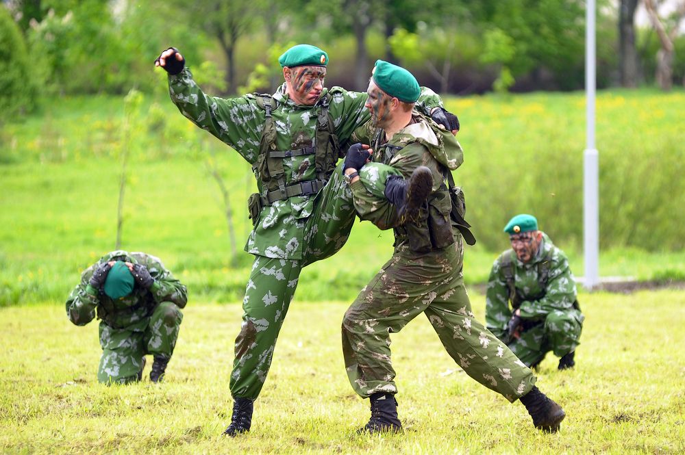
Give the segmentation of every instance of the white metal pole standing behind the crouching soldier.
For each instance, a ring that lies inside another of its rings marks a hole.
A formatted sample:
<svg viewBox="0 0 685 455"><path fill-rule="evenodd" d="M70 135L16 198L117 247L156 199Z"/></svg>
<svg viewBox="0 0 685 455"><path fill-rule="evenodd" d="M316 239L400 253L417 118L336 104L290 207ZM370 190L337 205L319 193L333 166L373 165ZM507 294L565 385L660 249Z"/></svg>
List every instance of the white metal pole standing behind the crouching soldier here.
<svg viewBox="0 0 685 455"><path fill-rule="evenodd" d="M587 142L583 160L585 288L599 284L599 153L595 148L595 0L585 12L585 93Z"/></svg>

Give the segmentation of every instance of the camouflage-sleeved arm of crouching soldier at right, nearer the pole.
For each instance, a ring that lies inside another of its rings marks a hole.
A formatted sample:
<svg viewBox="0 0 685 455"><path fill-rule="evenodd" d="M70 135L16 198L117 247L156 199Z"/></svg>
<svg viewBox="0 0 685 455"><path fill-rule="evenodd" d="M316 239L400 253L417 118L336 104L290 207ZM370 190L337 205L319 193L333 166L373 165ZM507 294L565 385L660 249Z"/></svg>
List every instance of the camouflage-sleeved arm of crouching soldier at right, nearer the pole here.
<svg viewBox="0 0 685 455"><path fill-rule="evenodd" d="M569 260L563 252L553 259L553 266L549 270L547 291L540 300L525 300L521 302L521 317L524 319L538 319L547 316L554 310L567 310L573 307L576 297L575 279L569 267Z"/></svg>

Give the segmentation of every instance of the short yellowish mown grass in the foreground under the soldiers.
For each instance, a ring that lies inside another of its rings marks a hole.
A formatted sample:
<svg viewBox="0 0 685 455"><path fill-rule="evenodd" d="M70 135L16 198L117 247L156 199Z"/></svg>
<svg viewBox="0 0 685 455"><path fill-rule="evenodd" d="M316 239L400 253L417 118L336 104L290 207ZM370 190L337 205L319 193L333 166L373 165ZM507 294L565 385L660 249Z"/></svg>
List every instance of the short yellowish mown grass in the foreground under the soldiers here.
<svg viewBox="0 0 685 455"><path fill-rule="evenodd" d="M484 298L472 299L482 319ZM587 319L577 366L558 372L549 354L538 372L540 389L567 413L558 434L537 432L521 404L467 377L418 317L393 334L406 432L352 436L369 410L351 390L340 353L347 303L296 298L253 431L236 440L219 435L232 406L238 304L190 302L166 382L127 387L97 383L96 324L73 326L49 302L0 309L0 452L682 453L685 292L580 300Z"/></svg>

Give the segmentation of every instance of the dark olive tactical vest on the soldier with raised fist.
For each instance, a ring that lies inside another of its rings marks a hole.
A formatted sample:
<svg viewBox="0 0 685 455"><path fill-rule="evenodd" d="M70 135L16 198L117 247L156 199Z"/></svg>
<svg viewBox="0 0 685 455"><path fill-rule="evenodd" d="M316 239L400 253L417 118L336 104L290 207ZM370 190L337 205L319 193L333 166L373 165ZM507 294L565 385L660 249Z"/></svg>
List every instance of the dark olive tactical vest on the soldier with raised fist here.
<svg viewBox="0 0 685 455"><path fill-rule="evenodd" d="M272 205L277 200L292 196L318 193L328 181L340 158L338 136L335 133L333 118L328 112L332 98L330 93L317 103L321 109L312 146L285 151L276 149L276 125L271 114L277 108L277 101L270 94L255 94L255 96L257 104L264 109L265 118L259 155L255 164L252 165L252 172L257 177L260 187L260 193L250 196L248 203L253 223L256 222L261 208L265 205ZM286 185L283 160L301 155L314 155L316 179Z"/></svg>

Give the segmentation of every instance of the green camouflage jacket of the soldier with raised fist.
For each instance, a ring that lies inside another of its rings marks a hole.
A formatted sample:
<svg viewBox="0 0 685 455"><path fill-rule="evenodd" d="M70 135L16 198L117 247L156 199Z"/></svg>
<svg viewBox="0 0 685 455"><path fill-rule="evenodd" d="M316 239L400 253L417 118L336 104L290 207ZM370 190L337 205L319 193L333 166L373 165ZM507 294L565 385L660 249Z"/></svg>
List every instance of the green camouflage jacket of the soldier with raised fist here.
<svg viewBox="0 0 685 455"><path fill-rule="evenodd" d="M188 68L178 75L169 75L169 93L179 111L190 121L234 148L249 164L256 163L265 123L265 112L258 105L258 96L247 94L232 99L208 96L197 86ZM368 97L366 93L349 92L340 87L325 88L316 105L297 105L288 97L284 83L273 94L277 103L272 112L277 150L312 146L319 112L327 94L330 94L329 115L340 146L343 148L349 144L352 132L370 118L369 111L364 108ZM422 88L419 100L427 112L442 106L440 97L426 88ZM337 153L342 156L345 151ZM337 159L335 157L334 161ZM283 167L286 185L316 179L312 155L284 158ZM262 207L245 251L280 259L302 259L304 226L312 214L315 200L316 194L292 196Z"/></svg>

